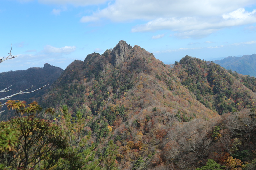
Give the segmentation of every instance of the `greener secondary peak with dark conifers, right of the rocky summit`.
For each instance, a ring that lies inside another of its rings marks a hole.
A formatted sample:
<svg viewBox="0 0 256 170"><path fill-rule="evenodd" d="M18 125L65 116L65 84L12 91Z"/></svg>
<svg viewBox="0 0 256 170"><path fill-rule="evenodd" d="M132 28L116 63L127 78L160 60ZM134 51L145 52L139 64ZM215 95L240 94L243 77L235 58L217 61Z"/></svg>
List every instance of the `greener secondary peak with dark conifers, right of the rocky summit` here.
<svg viewBox="0 0 256 170"><path fill-rule="evenodd" d="M173 70L181 84L193 92L197 100L220 115L255 107L256 95L247 88L255 81L246 85L244 81L241 82L246 76L233 76L236 73L231 70L190 56L182 58Z"/></svg>

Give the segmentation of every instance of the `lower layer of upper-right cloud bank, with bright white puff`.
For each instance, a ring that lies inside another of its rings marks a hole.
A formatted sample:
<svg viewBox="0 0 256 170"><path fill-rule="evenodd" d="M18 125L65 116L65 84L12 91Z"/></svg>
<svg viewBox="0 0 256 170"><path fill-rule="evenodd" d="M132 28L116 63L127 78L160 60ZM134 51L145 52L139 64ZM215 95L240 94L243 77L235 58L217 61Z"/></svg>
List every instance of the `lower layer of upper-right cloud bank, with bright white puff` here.
<svg viewBox="0 0 256 170"><path fill-rule="evenodd" d="M212 20L207 17L157 18L146 24L135 26L132 28L132 32L167 29L177 32L174 35L181 38L201 38L225 27L256 23L255 12L256 10L253 12L240 10L239 15L232 14L231 12L229 17L224 17L225 19L215 17Z"/></svg>

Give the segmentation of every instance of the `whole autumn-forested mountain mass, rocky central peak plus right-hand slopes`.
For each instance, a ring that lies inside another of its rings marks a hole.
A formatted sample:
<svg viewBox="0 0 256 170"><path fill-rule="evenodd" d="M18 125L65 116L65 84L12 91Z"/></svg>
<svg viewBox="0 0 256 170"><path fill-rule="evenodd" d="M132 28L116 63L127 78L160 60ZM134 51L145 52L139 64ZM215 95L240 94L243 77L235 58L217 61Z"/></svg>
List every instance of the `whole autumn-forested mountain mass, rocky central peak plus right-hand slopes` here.
<svg viewBox="0 0 256 170"><path fill-rule="evenodd" d="M254 167L256 99L241 78L189 56L171 68L120 41L72 62L43 100L56 113L39 116L66 129L77 150L80 134L89 135L92 162L113 154L114 140L118 169L195 169L207 159L222 169Z"/></svg>

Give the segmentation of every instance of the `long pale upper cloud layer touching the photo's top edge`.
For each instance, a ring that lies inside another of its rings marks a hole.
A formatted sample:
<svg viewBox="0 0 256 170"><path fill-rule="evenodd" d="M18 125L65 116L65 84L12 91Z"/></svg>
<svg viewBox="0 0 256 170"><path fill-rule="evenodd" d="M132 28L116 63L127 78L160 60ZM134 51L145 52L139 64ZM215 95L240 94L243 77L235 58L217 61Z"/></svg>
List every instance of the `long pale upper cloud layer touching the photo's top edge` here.
<svg viewBox="0 0 256 170"><path fill-rule="evenodd" d="M92 16L116 22L134 19L153 20L160 17L221 16L254 3L254 0L115 0L113 4L94 12Z"/></svg>

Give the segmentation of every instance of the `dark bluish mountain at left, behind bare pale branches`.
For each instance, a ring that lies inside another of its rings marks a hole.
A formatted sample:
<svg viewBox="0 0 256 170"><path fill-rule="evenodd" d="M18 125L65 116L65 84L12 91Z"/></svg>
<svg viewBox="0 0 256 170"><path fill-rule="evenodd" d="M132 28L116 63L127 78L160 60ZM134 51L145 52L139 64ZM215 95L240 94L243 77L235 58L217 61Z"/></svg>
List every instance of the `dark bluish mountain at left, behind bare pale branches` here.
<svg viewBox="0 0 256 170"><path fill-rule="evenodd" d="M2 72L0 73L0 89L3 90L12 86L9 88L11 89L10 91L0 93L0 98L20 92L20 90L28 89L32 85L34 87L31 88L31 91L49 84L39 91L12 97L12 100L38 101L45 92L48 92L52 83L59 78L63 71L60 67L44 64L43 68L33 67L27 70Z"/></svg>

